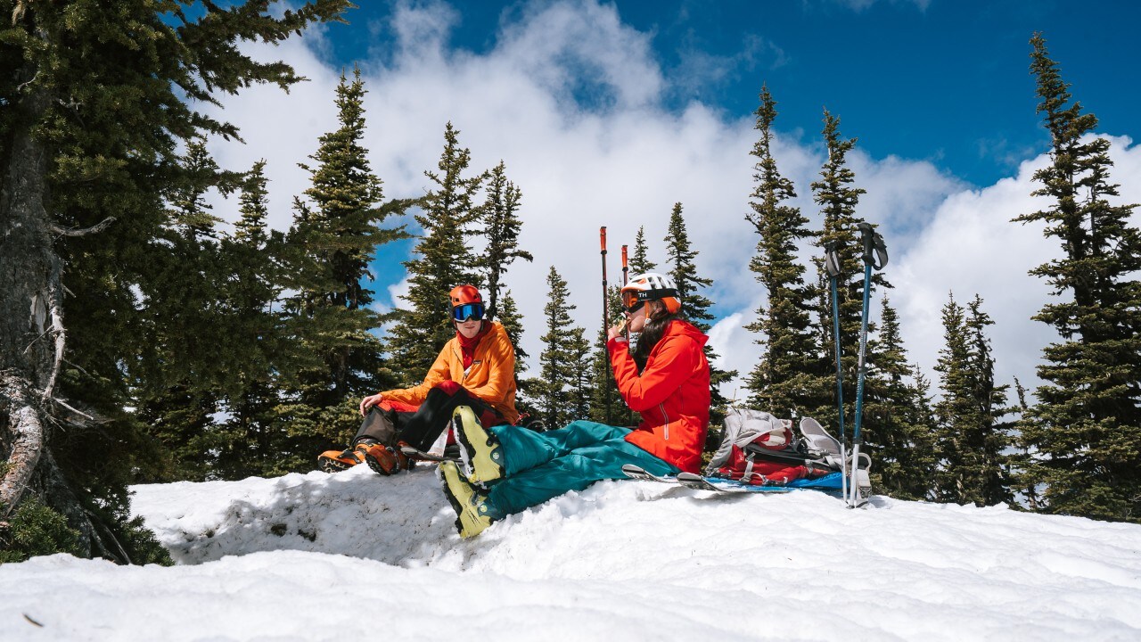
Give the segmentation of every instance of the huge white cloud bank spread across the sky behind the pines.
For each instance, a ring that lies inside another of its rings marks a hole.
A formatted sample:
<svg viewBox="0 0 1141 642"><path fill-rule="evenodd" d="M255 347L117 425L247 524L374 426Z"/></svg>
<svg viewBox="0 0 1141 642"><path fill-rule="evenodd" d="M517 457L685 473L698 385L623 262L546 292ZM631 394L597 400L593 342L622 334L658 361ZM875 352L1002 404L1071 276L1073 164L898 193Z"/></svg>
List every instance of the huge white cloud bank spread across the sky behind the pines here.
<svg viewBox="0 0 1141 642"><path fill-rule="evenodd" d="M701 252L698 267L715 280L709 296L726 314L712 344L722 367L748 372L759 347L741 326L752 321L764 296L746 267L756 244L744 219L753 188L751 115L727 117L699 102L680 112L666 110L671 81L654 58L648 34L622 24L610 5L527 5L510 17L504 14L495 45L478 55L450 48L450 29L460 17L447 5L400 5L393 19L388 31L397 34L396 50L361 61L373 169L387 196L422 194L428 188L423 170L436 168L447 121L471 149L472 170L505 161L509 178L523 190L520 242L535 255L534 264L516 263L507 274L529 326L524 338L529 354L537 359L541 351L537 323L548 267L555 265L568 281L575 323L594 328L601 319L598 227L608 226L613 282L621 278L618 247L632 244L639 226L646 228L652 260L664 264L662 238L680 201ZM270 222L278 228L289 225L290 202L307 186L308 176L296 163L335 127L333 89L341 70L317 45L310 47L306 37L259 49L265 58L289 61L311 81L289 96L254 88L227 99L224 117L242 128L248 145L211 146L226 167L268 159ZM824 161L819 136L779 127L778 118L774 153L780 171L795 182L795 204L818 225L809 183ZM860 134L844 131L843 123L841 131ZM1127 144L1115 141L1114 176L1134 190L1124 200L1138 202L1141 152L1126 151ZM849 159L858 186L867 190L858 214L882 225L892 254L890 297L912 359L925 367L934 362L947 291L962 303L978 292L996 320L992 336L1000 375L1017 374L1029 383L1049 332L1029 321L1046 296L1045 286L1026 272L1055 250L1039 230L1009 220L1030 207L1029 176L1042 159L979 191L926 161L873 159L858 147ZM406 284L378 283L377 289L395 297Z"/></svg>

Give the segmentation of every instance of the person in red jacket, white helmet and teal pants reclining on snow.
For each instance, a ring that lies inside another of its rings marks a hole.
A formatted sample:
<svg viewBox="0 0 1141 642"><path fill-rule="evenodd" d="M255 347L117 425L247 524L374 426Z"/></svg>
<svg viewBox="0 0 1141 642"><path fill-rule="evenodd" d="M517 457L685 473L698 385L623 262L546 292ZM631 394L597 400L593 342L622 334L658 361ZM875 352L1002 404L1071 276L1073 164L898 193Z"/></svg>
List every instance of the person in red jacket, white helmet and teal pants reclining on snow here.
<svg viewBox="0 0 1141 642"><path fill-rule="evenodd" d="M709 339L685 320L673 282L641 274L622 288L631 351L621 324L607 331L607 351L622 399L641 412L633 428L574 422L534 433L516 426L485 427L466 408L453 423L462 465L440 464L444 493L455 508L460 536L474 537L512 513L599 480L626 479L624 464L655 475L698 472L709 430Z"/></svg>

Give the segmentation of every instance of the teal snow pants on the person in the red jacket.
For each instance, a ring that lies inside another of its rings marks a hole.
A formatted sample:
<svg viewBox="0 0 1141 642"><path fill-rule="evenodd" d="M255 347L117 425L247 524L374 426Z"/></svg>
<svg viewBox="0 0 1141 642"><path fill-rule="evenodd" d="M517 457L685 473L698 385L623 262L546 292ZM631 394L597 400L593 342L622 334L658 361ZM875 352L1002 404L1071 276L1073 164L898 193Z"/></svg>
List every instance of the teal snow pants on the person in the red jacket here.
<svg viewBox="0 0 1141 642"><path fill-rule="evenodd" d="M565 428L536 433L519 426L495 426L503 449L503 479L487 491L487 514L501 520L542 504L568 490L583 490L600 480L624 480L623 464L636 464L655 475L679 470L626 442L630 428L594 422L574 422Z"/></svg>

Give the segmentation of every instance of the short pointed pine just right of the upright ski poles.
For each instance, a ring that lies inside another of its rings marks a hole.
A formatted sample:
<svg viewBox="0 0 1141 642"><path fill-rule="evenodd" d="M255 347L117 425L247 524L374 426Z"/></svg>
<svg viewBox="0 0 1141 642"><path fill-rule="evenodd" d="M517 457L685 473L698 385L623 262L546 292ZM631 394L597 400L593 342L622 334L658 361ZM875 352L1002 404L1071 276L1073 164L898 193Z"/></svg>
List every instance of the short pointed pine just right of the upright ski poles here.
<svg viewBox="0 0 1141 642"><path fill-rule="evenodd" d="M887 298L880 315L880 350L865 384L864 446L875 459L872 485L897 499L924 499L936 467L934 423L925 382L907 362L899 316ZM912 383L915 382L915 383Z"/></svg>

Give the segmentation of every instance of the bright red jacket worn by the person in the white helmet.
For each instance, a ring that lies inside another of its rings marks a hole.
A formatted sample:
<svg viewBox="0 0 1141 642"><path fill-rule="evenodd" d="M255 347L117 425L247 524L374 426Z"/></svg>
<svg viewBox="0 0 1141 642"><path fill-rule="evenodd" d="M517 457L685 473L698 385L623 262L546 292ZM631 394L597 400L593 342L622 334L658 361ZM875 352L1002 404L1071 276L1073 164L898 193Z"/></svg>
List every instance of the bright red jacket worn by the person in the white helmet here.
<svg viewBox="0 0 1141 642"><path fill-rule="evenodd" d="M672 321L641 375L625 339L606 344L622 399L642 416L626 441L690 473L701 470L710 425L707 340L691 323Z"/></svg>

